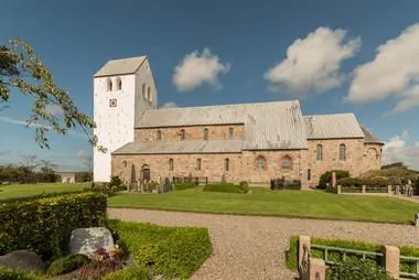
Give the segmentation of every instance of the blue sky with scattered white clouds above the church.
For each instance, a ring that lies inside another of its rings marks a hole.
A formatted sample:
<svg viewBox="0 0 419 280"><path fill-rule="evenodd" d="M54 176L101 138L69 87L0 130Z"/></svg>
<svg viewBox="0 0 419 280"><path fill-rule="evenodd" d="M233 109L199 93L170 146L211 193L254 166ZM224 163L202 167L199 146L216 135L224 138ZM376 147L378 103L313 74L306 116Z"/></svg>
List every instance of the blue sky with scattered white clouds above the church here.
<svg viewBox="0 0 419 280"><path fill-rule="evenodd" d="M386 161L419 169L418 11L416 0L3 0L0 43L29 41L88 115L94 73L146 54L160 106L298 98L304 115L354 112L388 142ZM20 123L31 105L13 93L0 112L0 161L83 169L87 140L52 134L41 150Z"/></svg>

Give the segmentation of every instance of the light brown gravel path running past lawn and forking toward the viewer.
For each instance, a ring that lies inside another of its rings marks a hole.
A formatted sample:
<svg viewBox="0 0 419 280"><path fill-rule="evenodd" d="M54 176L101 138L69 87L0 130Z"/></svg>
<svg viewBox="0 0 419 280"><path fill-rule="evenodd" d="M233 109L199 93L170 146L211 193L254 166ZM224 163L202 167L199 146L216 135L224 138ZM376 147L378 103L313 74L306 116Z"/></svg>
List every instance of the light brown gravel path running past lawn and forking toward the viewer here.
<svg viewBox="0 0 419 280"><path fill-rule="evenodd" d="M292 235L419 247L419 228L407 225L127 208L108 212L122 220L207 227L213 255L192 279L294 279L297 274L284 265L284 250Z"/></svg>

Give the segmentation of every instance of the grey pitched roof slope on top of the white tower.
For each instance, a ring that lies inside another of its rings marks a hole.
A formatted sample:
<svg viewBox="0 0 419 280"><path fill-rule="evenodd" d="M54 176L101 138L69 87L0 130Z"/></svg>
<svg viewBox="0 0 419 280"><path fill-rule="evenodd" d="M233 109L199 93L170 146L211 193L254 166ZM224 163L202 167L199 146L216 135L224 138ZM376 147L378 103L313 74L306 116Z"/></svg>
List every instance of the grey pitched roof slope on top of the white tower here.
<svg viewBox="0 0 419 280"><path fill-rule="evenodd" d="M146 60L147 56L138 56L108 61L104 66L101 66L94 77L133 74Z"/></svg>

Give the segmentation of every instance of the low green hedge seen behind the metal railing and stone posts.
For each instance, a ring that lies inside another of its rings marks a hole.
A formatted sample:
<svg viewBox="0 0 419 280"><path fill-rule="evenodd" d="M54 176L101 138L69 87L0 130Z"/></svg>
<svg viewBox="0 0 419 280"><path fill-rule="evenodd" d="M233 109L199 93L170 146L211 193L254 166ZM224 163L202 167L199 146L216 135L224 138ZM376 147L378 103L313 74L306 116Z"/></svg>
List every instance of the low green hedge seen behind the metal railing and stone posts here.
<svg viewBox="0 0 419 280"><path fill-rule="evenodd" d="M363 241L356 241L356 240L343 240L343 239L323 239L323 238L311 238L311 244L313 245L324 245L324 246L332 246L332 247L340 247L340 248L346 248L346 249L355 249L355 250L363 250L363 251L376 251L382 252L383 246L377 244L369 244L369 243L363 243ZM298 269L298 245L299 245L299 237L292 236L290 238L290 248L287 256L287 267L292 270ZM407 247L401 246L400 249L400 256L410 256L410 257L419 257L419 248L415 247ZM323 250L319 249L311 249L310 250L311 256L314 258L324 259L324 252ZM362 256L351 256L346 255L346 260L350 262L356 262L359 261ZM327 252L327 259L341 262L341 254L337 251ZM366 256L365 263L369 265L370 267L376 267L382 263L379 263L380 260L376 259L370 256ZM405 272L416 272L416 262L415 261L407 261L407 260L400 260L400 271Z"/></svg>

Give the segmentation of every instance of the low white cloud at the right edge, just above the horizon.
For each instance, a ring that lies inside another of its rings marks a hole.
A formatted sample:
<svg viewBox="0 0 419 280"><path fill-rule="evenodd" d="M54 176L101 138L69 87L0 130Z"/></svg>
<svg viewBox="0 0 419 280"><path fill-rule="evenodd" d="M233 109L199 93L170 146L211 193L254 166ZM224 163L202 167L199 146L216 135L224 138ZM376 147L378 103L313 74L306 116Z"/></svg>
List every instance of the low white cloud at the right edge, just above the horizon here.
<svg viewBox="0 0 419 280"><path fill-rule="evenodd" d="M391 137L383 148L383 163L404 162L407 166L419 170L419 142L408 144L402 137Z"/></svg>

